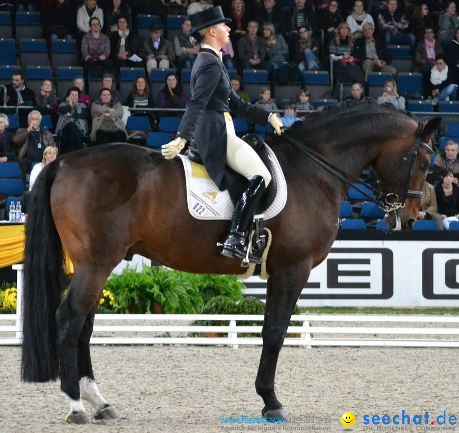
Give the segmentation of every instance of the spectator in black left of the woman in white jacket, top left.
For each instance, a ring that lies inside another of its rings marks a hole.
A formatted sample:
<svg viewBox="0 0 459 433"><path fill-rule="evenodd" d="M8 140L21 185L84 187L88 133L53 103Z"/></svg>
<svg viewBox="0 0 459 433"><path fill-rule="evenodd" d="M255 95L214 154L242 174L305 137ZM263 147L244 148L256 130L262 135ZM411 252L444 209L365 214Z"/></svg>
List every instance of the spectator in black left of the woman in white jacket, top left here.
<svg viewBox="0 0 459 433"><path fill-rule="evenodd" d="M49 39L71 39L75 33L75 13L69 0L52 0L41 14L43 36Z"/></svg>

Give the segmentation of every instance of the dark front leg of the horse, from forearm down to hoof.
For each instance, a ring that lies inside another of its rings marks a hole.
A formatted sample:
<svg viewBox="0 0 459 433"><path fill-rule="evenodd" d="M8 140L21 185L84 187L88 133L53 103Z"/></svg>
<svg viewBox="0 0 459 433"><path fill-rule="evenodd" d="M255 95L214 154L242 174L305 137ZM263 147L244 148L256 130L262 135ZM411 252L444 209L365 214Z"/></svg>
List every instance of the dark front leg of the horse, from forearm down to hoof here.
<svg viewBox="0 0 459 433"><path fill-rule="evenodd" d="M277 357L284 344L296 302L310 272L310 267L302 265L287 270L271 271L268 279L262 330L263 350L255 381L257 393L265 402L262 411L264 417L277 420L288 418L274 392Z"/></svg>

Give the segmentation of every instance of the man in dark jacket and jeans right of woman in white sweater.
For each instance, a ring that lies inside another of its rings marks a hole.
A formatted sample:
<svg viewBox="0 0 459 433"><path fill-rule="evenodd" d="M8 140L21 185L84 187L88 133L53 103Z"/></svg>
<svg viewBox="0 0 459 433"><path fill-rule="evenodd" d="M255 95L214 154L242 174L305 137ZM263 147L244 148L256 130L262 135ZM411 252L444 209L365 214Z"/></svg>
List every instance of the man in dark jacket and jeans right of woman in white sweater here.
<svg viewBox="0 0 459 433"><path fill-rule="evenodd" d="M397 0L387 2L387 8L378 14L377 21L387 45L410 45L414 53L416 38L413 34L408 33L410 23L405 14L398 9Z"/></svg>

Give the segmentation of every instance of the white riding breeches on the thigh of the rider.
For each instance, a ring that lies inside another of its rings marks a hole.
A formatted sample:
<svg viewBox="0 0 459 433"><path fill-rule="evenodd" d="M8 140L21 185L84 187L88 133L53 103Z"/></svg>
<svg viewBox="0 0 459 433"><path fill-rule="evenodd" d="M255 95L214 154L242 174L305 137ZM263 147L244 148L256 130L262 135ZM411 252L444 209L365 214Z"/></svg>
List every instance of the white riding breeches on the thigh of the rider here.
<svg viewBox="0 0 459 433"><path fill-rule="evenodd" d="M226 165L242 174L248 180L253 176L262 176L265 187L271 182L271 174L263 161L249 144L241 140L234 131L233 121L225 117L226 122Z"/></svg>

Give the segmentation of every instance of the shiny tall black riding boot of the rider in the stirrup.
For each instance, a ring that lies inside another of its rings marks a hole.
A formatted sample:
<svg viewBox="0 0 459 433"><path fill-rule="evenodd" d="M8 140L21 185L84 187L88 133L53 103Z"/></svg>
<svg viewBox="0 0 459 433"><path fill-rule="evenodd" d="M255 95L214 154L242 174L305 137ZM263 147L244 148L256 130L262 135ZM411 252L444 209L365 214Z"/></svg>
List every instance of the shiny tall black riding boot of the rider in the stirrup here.
<svg viewBox="0 0 459 433"><path fill-rule="evenodd" d="M234 210L233 220L231 221L230 233L228 234L221 253L223 256L233 259L245 259L250 240L246 240L247 232L253 219L253 214L257 209L258 202L265 192L265 180L262 176L253 176L239 199ZM263 263L259 257L248 255L250 263Z"/></svg>

